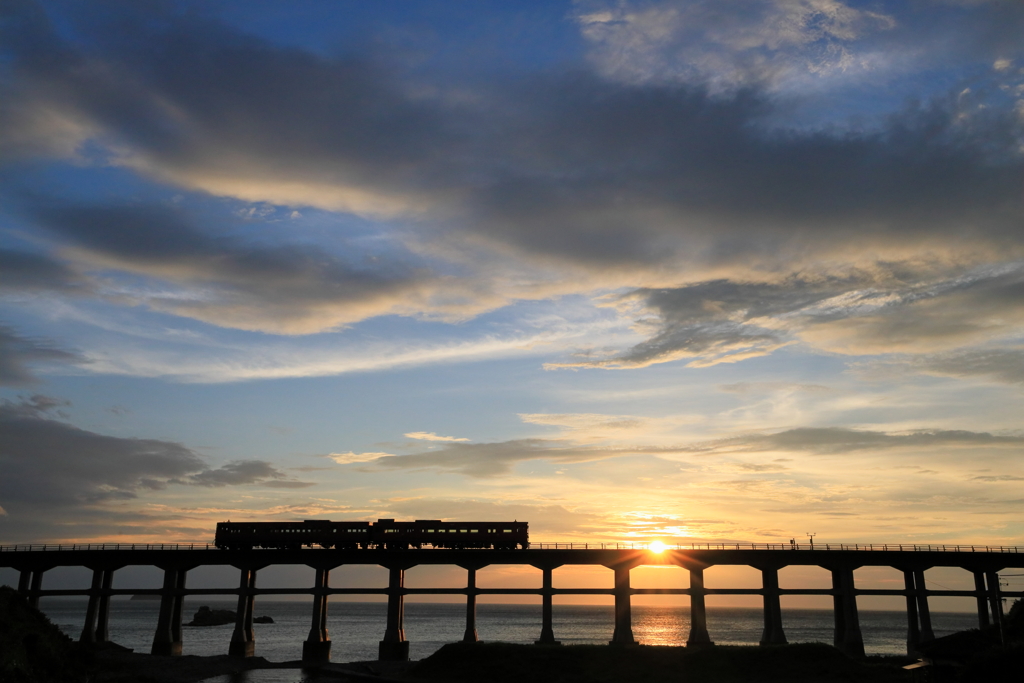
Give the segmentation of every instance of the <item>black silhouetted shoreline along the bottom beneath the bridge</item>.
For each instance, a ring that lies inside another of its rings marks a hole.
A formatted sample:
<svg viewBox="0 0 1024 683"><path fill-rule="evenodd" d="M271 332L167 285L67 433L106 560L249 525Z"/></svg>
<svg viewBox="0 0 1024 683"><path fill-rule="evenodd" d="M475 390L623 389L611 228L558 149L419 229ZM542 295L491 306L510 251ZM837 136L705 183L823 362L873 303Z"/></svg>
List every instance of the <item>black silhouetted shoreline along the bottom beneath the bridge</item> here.
<svg viewBox="0 0 1024 683"><path fill-rule="evenodd" d="M925 654L943 667L914 679L907 657L851 659L829 645L681 647L538 646L455 643L422 661L331 664L296 671L316 681L396 683L888 683L914 680L999 683L1024 680L1024 616L1008 620L1008 645L996 632L940 638ZM1022 627L1018 629L1018 627ZM301 669L262 657L159 657L117 645L82 647L7 587L0 587L0 681L3 683L198 683L254 669ZM920 672L924 673L924 672ZM936 676L938 674L938 676ZM241 679L240 680L244 680Z"/></svg>

